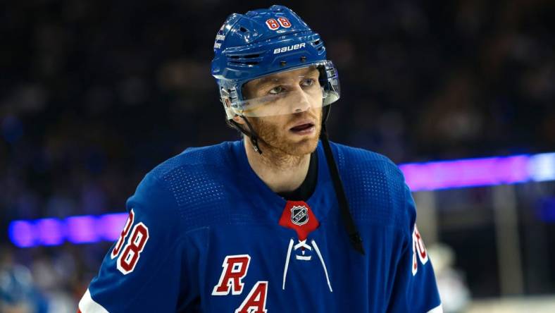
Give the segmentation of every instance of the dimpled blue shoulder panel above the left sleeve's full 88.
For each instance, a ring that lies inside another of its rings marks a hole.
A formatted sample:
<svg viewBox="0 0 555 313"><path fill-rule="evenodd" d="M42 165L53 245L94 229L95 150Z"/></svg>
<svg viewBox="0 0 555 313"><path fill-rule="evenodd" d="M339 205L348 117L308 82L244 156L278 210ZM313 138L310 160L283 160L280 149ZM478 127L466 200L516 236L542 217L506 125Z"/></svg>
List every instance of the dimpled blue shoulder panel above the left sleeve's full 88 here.
<svg viewBox="0 0 555 313"><path fill-rule="evenodd" d="M173 208L175 214L170 215L178 219L185 230L222 221L227 216L224 204L232 195L230 186L235 185L232 168L236 160L232 146L236 144L222 142L188 148L146 174L137 191L145 182L155 181L150 188L163 189L165 198L157 201L166 202L166 210Z"/></svg>

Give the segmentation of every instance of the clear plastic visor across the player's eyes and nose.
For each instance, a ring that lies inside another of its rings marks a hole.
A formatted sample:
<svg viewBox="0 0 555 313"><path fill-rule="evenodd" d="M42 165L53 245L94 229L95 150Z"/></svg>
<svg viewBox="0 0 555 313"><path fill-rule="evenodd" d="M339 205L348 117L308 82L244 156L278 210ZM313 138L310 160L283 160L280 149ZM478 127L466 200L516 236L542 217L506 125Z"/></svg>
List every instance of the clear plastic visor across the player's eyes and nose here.
<svg viewBox="0 0 555 313"><path fill-rule="evenodd" d="M228 103L239 116L280 116L321 108L339 99L339 80L324 65L268 75L244 84L245 100ZM328 73L330 74L330 73ZM326 75L322 79L320 75Z"/></svg>

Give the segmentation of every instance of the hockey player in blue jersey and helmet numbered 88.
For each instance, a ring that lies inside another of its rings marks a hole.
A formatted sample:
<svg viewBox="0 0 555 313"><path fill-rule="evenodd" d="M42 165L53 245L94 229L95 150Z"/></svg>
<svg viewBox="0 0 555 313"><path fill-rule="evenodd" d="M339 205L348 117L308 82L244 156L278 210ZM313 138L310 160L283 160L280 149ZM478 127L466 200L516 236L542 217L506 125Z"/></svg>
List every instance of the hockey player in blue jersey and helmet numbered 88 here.
<svg viewBox="0 0 555 313"><path fill-rule="evenodd" d="M244 140L145 176L80 312L442 312L401 171L328 141L320 36L271 6L229 16L214 52Z"/></svg>

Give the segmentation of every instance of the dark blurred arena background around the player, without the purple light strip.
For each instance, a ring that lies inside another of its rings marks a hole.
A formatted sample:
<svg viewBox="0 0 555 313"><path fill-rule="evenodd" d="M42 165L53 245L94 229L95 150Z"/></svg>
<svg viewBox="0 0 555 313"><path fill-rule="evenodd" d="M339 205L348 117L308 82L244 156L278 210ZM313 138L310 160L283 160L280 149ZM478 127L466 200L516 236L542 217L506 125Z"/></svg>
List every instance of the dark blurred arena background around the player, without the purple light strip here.
<svg viewBox="0 0 555 313"><path fill-rule="evenodd" d="M12 221L121 213L156 164L239 138L210 75L214 37L271 4L2 2L0 312L75 312L112 244L22 244ZM397 164L544 156L547 179L414 197L446 312L555 312L555 1L282 4L339 70L332 140Z"/></svg>

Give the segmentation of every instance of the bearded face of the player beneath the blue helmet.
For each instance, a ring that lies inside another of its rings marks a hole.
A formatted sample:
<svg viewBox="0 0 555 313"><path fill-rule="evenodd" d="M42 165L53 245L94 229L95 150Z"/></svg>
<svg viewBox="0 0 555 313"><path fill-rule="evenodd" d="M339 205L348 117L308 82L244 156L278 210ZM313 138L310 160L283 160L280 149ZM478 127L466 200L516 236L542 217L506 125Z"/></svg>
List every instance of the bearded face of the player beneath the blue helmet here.
<svg viewBox="0 0 555 313"><path fill-rule="evenodd" d="M322 91L314 67L276 73L244 85L248 99L270 97L280 115L247 117L263 145L284 154L301 156L316 149L322 125ZM235 118L242 123L242 119Z"/></svg>

